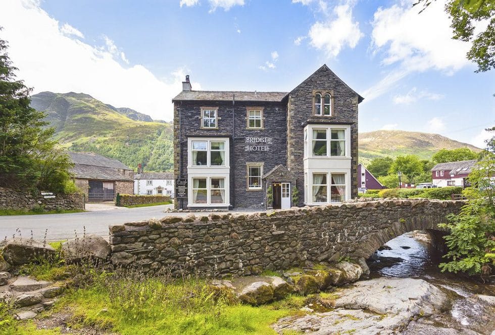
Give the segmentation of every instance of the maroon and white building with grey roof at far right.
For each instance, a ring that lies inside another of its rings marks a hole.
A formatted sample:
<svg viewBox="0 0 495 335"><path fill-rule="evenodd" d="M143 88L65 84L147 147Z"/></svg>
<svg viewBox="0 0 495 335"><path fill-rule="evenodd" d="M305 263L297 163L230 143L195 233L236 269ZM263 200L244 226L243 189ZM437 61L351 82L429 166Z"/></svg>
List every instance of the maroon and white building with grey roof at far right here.
<svg viewBox="0 0 495 335"><path fill-rule="evenodd" d="M437 187L445 186L469 186L466 178L471 173L471 169L476 160L438 163L431 169L433 185Z"/></svg>

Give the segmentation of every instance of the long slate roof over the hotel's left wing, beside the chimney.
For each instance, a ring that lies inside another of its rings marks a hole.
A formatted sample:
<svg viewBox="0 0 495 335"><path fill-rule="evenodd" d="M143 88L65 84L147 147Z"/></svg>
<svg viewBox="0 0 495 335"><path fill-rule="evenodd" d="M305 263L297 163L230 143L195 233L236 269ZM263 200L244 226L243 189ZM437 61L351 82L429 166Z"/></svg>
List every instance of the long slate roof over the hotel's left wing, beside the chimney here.
<svg viewBox="0 0 495 335"><path fill-rule="evenodd" d="M259 101L259 102L280 102L288 92L242 92L242 91L182 91L174 101L197 100L197 101Z"/></svg>

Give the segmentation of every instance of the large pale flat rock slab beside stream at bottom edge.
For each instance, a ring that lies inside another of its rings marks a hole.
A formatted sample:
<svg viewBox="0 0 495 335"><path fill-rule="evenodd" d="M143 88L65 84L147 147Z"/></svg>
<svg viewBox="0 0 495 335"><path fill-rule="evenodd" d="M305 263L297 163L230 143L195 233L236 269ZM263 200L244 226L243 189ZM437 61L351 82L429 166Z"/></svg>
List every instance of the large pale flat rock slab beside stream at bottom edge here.
<svg viewBox="0 0 495 335"><path fill-rule="evenodd" d="M420 279L379 278L335 292L335 310L303 317L286 317L273 325L277 333L293 330L311 334L392 334L418 315L448 306L447 296ZM325 301L325 299L322 299Z"/></svg>

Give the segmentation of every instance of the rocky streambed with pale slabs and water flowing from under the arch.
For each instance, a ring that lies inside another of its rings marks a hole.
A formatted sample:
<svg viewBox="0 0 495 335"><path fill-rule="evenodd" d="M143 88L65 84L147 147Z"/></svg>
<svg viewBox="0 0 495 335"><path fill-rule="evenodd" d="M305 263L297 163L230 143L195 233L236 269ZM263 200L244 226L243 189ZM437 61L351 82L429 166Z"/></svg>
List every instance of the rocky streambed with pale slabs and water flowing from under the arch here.
<svg viewBox="0 0 495 335"><path fill-rule="evenodd" d="M332 309L290 316L277 333L495 335L495 286L442 274L424 234L391 240L368 260L370 279L338 288ZM324 295L322 295L324 297Z"/></svg>

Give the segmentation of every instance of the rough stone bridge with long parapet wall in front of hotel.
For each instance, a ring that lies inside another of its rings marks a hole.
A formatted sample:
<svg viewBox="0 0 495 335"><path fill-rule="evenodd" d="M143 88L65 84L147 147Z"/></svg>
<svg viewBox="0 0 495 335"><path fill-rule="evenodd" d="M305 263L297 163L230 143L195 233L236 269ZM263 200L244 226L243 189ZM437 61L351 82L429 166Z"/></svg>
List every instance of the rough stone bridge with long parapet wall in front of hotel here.
<svg viewBox="0 0 495 335"><path fill-rule="evenodd" d="M412 230L438 230L463 201L376 200L249 215L166 217L110 226L112 263L148 272L202 276L259 274L265 269L367 258Z"/></svg>

